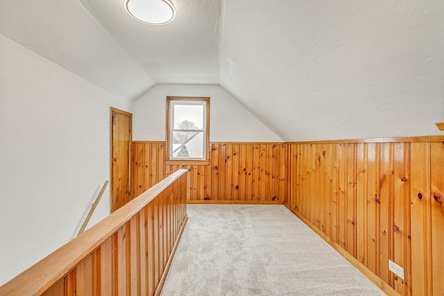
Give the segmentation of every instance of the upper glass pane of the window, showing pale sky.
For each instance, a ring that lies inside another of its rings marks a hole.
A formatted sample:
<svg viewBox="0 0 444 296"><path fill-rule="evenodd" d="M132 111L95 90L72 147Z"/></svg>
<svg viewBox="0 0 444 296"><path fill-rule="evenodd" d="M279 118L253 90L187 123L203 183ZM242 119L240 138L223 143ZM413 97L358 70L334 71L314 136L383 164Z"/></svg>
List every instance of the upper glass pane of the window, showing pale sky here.
<svg viewBox="0 0 444 296"><path fill-rule="evenodd" d="M174 105L174 129L202 130L203 105Z"/></svg>

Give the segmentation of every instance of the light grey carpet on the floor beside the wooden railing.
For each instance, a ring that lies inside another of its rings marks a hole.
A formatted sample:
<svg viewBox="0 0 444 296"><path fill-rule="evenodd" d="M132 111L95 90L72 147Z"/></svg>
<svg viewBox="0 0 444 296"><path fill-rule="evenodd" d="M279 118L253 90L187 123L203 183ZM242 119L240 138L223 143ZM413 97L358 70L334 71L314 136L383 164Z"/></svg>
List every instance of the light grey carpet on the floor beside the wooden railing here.
<svg viewBox="0 0 444 296"><path fill-rule="evenodd" d="M189 204L162 295L385 295L282 205Z"/></svg>

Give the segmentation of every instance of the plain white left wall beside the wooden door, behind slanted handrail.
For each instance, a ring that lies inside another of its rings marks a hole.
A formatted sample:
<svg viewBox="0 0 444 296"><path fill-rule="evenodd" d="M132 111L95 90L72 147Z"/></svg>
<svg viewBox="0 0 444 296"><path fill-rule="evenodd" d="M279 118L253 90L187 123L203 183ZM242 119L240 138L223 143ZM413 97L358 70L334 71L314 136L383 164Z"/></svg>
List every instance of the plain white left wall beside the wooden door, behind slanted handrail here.
<svg viewBox="0 0 444 296"><path fill-rule="evenodd" d="M110 106L133 103L0 34L0 285L67 243L109 180ZM109 187L90 225L109 214Z"/></svg>

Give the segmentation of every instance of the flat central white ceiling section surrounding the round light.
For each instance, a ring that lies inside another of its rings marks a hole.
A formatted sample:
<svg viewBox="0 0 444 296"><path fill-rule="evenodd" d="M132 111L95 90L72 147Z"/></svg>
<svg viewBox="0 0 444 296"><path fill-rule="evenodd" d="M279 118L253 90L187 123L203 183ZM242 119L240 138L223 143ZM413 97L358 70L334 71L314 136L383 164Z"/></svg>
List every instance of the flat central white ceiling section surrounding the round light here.
<svg viewBox="0 0 444 296"><path fill-rule="evenodd" d="M219 84L221 0L173 1L176 18L153 26L123 0L80 0L155 83Z"/></svg>

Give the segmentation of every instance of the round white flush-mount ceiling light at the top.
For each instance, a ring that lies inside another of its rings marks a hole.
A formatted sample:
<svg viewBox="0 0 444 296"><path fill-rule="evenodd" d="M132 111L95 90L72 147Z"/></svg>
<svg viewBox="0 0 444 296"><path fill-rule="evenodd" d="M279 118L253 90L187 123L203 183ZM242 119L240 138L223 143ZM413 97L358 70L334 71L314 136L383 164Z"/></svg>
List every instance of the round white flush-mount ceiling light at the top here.
<svg viewBox="0 0 444 296"><path fill-rule="evenodd" d="M128 13L146 24L168 24L176 16L176 9L169 0L126 0Z"/></svg>

